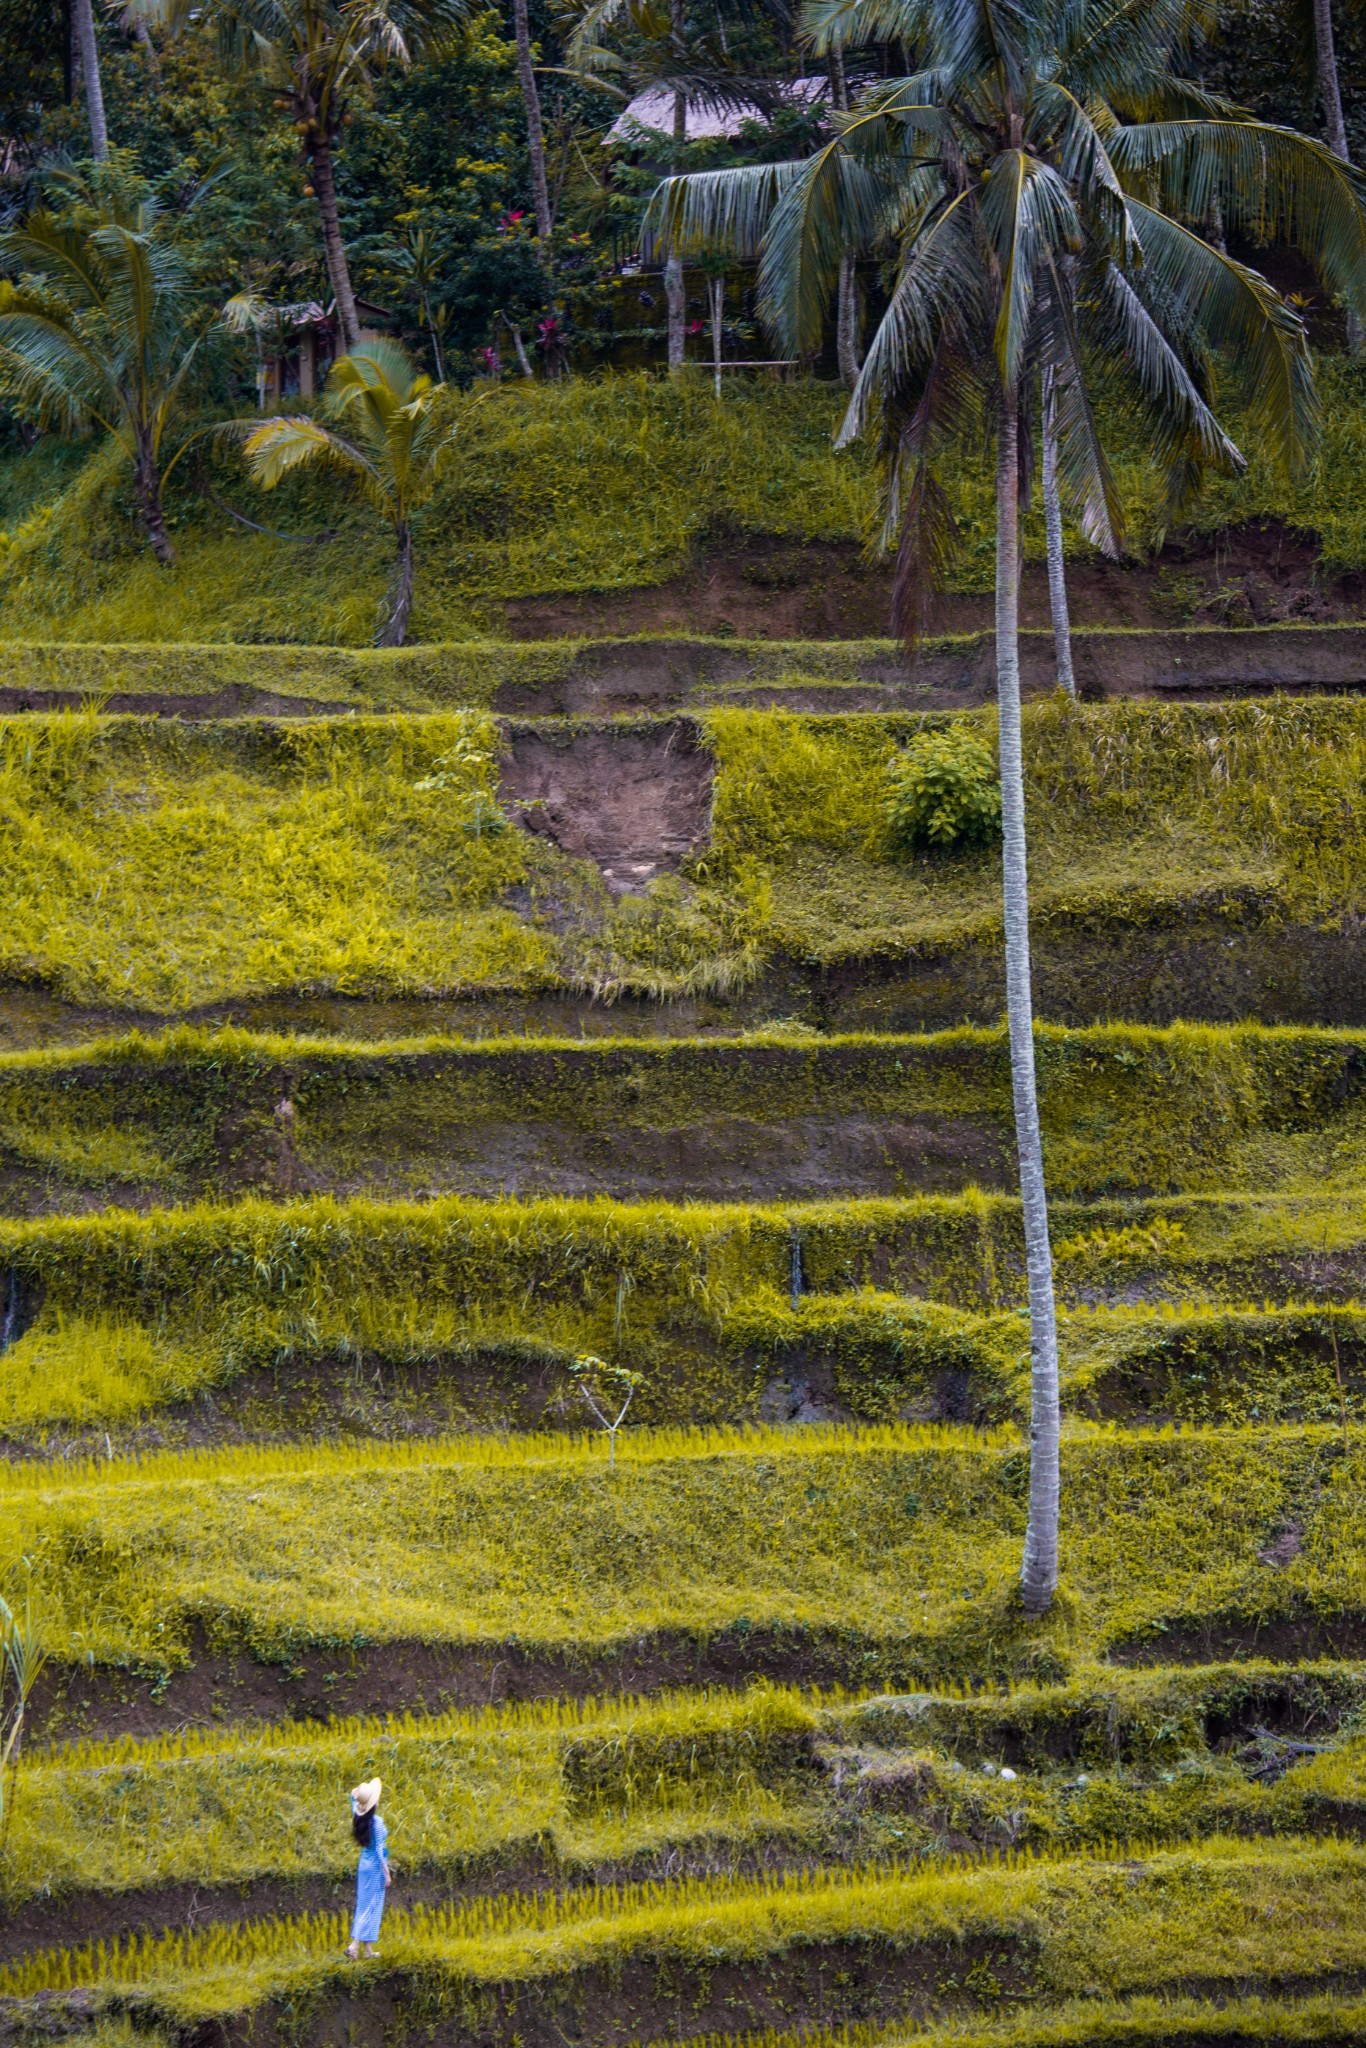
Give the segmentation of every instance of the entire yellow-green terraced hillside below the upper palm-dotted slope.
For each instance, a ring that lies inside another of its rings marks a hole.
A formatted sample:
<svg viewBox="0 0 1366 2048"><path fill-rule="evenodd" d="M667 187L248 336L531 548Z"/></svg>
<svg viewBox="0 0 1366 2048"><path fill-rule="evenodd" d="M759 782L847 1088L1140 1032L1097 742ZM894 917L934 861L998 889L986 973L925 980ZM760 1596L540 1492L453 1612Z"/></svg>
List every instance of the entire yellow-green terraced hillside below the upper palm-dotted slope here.
<svg viewBox="0 0 1366 2048"><path fill-rule="evenodd" d="M1350 635L1026 717L1044 1620L979 647L14 659L2 2038L1366 2038Z"/></svg>

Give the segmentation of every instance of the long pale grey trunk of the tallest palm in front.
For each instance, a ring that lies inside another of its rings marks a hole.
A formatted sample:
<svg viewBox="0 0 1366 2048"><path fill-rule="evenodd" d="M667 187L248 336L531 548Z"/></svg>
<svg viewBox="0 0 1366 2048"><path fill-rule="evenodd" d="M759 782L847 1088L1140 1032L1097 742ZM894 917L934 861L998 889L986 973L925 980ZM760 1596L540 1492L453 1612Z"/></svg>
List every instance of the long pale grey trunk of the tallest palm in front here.
<svg viewBox="0 0 1366 2048"><path fill-rule="evenodd" d="M1057 1587L1059 1391L1053 1251L1044 1190L1038 1090L1034 1083L1034 999L1030 989L1030 883L1024 848L1024 756L1020 741L1020 414L1006 393L995 465L995 690L1001 735L1001 866L1006 903L1006 1024L1016 1102L1016 1153L1030 1290L1030 1511L1020 1595L1042 1614Z"/></svg>

